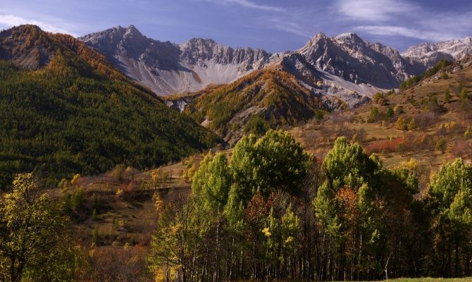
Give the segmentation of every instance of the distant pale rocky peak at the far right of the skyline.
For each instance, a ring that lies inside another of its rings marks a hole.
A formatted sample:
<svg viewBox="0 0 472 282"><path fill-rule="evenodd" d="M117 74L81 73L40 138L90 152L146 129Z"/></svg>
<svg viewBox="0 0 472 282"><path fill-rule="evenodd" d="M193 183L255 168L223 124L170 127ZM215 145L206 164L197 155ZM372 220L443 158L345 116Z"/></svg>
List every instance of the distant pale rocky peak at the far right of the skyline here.
<svg viewBox="0 0 472 282"><path fill-rule="evenodd" d="M457 61L472 55L472 37L409 47L402 56L411 63L430 68L441 59Z"/></svg>

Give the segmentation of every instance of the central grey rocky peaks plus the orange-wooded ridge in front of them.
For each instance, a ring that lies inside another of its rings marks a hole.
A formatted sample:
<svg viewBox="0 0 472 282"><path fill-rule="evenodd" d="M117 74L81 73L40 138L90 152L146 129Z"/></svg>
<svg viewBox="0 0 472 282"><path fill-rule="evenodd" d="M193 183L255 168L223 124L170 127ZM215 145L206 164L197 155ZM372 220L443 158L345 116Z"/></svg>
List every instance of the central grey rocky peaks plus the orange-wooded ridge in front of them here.
<svg viewBox="0 0 472 282"><path fill-rule="evenodd" d="M156 94L172 93L165 98L168 106L230 143L242 136L251 118L268 126L296 125L320 109L366 104L376 92L397 88L428 68L426 61L352 32L335 37L318 33L301 49L277 54L232 49L211 39L159 42L132 25L80 39ZM455 51L466 53L466 48L463 44Z"/></svg>

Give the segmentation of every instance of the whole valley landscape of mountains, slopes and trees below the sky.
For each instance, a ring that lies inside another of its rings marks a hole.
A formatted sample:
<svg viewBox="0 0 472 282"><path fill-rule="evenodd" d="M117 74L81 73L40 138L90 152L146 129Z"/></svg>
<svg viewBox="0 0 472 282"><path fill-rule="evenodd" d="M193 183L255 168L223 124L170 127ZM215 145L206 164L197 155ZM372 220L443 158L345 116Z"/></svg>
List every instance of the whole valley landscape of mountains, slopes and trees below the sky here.
<svg viewBox="0 0 472 282"><path fill-rule="evenodd" d="M0 98L1 281L472 275L471 37L271 54L20 25Z"/></svg>

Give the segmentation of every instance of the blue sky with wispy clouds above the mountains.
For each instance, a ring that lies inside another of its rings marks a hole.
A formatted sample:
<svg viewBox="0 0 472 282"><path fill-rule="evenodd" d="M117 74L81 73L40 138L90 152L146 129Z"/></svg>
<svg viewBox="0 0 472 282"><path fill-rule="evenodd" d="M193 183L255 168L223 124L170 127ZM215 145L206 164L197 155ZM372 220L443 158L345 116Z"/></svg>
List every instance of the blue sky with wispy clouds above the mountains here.
<svg viewBox="0 0 472 282"><path fill-rule="evenodd" d="M298 49L318 32L356 32L404 51L471 36L472 1L1 0L0 29L22 23L76 36L132 24L161 41L203 37L271 52Z"/></svg>

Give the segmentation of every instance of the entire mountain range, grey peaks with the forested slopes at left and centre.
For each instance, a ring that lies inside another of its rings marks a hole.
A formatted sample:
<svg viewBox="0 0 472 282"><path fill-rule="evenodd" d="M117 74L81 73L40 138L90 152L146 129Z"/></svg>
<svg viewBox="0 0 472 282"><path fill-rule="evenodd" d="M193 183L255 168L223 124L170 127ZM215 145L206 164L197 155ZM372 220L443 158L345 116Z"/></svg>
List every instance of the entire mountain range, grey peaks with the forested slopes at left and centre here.
<svg viewBox="0 0 472 282"><path fill-rule="evenodd" d="M216 145L213 133L234 144L261 128L361 106L471 50L471 38L400 54L355 33L318 33L270 54L211 39L160 42L132 25L78 39L13 27L0 32L0 180L18 170L57 180L120 163L148 168Z"/></svg>

